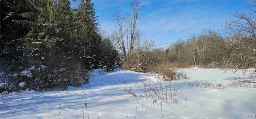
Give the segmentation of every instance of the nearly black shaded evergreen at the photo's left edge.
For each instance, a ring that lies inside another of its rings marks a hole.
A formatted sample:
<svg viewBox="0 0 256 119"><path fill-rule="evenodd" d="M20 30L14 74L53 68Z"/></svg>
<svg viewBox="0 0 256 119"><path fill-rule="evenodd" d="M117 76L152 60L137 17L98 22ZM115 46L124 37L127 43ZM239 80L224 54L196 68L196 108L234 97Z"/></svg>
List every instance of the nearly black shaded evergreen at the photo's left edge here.
<svg viewBox="0 0 256 119"><path fill-rule="evenodd" d="M28 11L26 1L1 0L1 70L9 73L16 70L22 57L20 39L28 33L28 28L17 24L16 20L26 20L18 14Z"/></svg>

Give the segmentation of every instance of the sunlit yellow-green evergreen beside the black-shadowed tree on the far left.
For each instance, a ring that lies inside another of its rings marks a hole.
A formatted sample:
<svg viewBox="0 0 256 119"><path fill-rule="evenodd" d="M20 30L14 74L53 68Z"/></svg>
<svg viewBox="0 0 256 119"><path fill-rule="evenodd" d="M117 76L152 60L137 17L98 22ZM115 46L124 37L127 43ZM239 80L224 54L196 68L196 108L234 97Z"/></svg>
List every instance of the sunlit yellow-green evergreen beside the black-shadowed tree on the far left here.
<svg viewBox="0 0 256 119"><path fill-rule="evenodd" d="M27 1L33 12L25 12L20 16L29 19L28 21L19 21L31 27L29 33L24 37L23 46L29 60L33 64L42 61L45 55L51 55L51 48L56 44L56 25L54 22L54 3L52 0ZM48 52L48 53L46 53ZM32 65L33 65L32 64Z"/></svg>

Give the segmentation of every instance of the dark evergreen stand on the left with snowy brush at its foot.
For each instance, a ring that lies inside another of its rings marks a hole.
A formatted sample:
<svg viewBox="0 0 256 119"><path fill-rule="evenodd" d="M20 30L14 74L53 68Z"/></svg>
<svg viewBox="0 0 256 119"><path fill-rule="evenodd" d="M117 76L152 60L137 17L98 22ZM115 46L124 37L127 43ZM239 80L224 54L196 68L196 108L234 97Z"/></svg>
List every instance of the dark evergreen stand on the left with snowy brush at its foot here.
<svg viewBox="0 0 256 119"><path fill-rule="evenodd" d="M1 83L7 90L80 86L89 70L113 70L117 54L100 35L91 0L77 8L69 0L1 0Z"/></svg>

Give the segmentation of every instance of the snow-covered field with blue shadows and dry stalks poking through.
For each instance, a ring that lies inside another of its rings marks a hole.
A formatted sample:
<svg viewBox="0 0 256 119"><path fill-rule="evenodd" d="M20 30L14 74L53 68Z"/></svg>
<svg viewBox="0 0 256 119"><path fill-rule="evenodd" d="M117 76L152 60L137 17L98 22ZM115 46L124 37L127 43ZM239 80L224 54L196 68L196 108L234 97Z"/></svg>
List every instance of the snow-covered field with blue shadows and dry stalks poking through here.
<svg viewBox="0 0 256 119"><path fill-rule="evenodd" d="M89 119L256 118L255 76L219 69L179 71L188 78L163 82L158 74L98 69L89 84L64 92L1 94L0 118L86 119L86 110Z"/></svg>

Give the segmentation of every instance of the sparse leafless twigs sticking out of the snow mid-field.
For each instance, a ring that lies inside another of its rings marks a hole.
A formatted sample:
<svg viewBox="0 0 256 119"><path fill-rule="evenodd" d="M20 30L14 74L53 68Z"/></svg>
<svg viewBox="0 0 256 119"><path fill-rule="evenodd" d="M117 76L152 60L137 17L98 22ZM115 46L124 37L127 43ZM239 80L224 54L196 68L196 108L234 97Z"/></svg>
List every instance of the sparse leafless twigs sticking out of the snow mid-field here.
<svg viewBox="0 0 256 119"><path fill-rule="evenodd" d="M164 103L176 103L176 95L181 86L186 80L181 83L176 81L153 81L142 79L140 82L133 82L132 86L126 85L126 88L121 89L124 92L132 94L135 98L138 96L153 99L152 104L157 101ZM134 90L136 89L136 90Z"/></svg>

